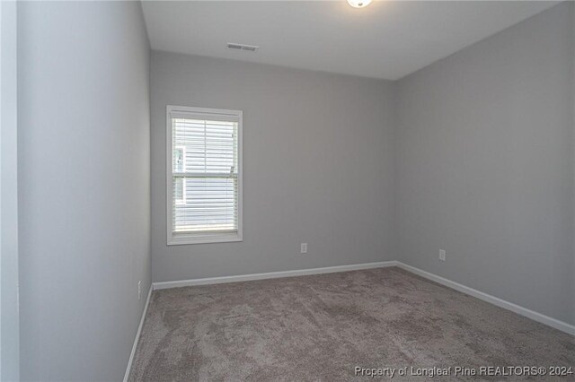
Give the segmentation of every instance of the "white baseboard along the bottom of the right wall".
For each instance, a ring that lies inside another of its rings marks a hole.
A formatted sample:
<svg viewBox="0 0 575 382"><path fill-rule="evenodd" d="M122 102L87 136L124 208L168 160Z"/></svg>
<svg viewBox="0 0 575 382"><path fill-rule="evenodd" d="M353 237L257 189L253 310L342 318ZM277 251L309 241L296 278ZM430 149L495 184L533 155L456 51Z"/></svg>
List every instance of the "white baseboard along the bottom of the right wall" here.
<svg viewBox="0 0 575 382"><path fill-rule="evenodd" d="M396 263L397 263L397 266L404 269L405 271L415 273L415 274L420 275L421 277L424 277L428 280L431 280L433 282L438 282L438 283L445 285L451 289L455 289L456 291L461 291L461 292L468 294L470 296L473 296L477 299L487 301L493 305L497 305L500 308L505 308L505 309L511 310L512 312L515 312L518 315L525 316L527 318L531 318L534 321L540 322L540 323L547 325L547 326L554 327L555 329L559 329L562 332L565 332L567 334L575 335L575 326L572 326L571 324L567 324L566 322L560 321L560 320L555 319L553 317L545 316L544 314L535 312L534 310L523 308L523 307L521 307L517 304L514 304L512 302L509 302L506 300L501 300L498 297L491 296L491 294L487 294L487 293L483 293L482 291L474 290L473 288L470 288L470 287L465 286L463 284L460 284L458 282L452 282L451 280L448 280L444 277L438 276L437 274L423 271L419 268L416 268L416 267L411 266L411 265L403 264L402 262L399 262L399 261Z"/></svg>

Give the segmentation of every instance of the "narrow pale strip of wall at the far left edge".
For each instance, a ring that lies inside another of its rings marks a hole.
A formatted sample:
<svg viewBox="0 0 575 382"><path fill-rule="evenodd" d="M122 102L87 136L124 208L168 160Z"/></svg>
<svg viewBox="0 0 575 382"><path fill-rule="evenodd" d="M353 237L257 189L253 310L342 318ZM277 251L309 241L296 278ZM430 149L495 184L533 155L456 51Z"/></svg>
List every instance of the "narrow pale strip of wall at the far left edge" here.
<svg viewBox="0 0 575 382"><path fill-rule="evenodd" d="M16 3L0 2L0 380L18 380Z"/></svg>

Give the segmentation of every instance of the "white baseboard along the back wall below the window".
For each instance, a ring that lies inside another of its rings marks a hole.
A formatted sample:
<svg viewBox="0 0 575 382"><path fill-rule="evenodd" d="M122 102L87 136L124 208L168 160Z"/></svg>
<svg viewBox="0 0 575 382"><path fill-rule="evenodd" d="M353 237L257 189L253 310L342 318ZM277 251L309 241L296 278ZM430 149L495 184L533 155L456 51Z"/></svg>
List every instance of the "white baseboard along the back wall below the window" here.
<svg viewBox="0 0 575 382"><path fill-rule="evenodd" d="M175 282L153 282L152 285L155 290L159 290L159 289L180 288L194 285L219 284L226 282L248 282L252 280L277 279L281 277L305 276L309 274L358 271L361 269L384 268L387 266L396 266L396 265L397 265L396 261L381 261L378 263L326 266L323 268L298 269L295 271L240 274L237 276L209 277L205 279L180 280Z"/></svg>

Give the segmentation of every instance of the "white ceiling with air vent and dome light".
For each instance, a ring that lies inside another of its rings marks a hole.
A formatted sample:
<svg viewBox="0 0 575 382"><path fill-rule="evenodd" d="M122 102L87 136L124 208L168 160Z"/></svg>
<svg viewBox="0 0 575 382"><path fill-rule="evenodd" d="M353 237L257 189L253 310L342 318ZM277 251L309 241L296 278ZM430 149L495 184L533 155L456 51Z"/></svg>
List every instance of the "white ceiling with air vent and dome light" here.
<svg viewBox="0 0 575 382"><path fill-rule="evenodd" d="M558 2L143 3L153 49L396 80ZM228 50L227 42L257 45Z"/></svg>

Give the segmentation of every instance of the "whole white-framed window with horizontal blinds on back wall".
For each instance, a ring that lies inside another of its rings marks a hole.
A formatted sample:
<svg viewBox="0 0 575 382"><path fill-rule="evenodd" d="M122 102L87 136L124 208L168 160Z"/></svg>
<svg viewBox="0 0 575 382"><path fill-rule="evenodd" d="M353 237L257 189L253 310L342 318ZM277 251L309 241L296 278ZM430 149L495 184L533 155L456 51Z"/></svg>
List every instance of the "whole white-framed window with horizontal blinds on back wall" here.
<svg viewBox="0 0 575 382"><path fill-rule="evenodd" d="M168 106L168 245L242 240L242 111Z"/></svg>

